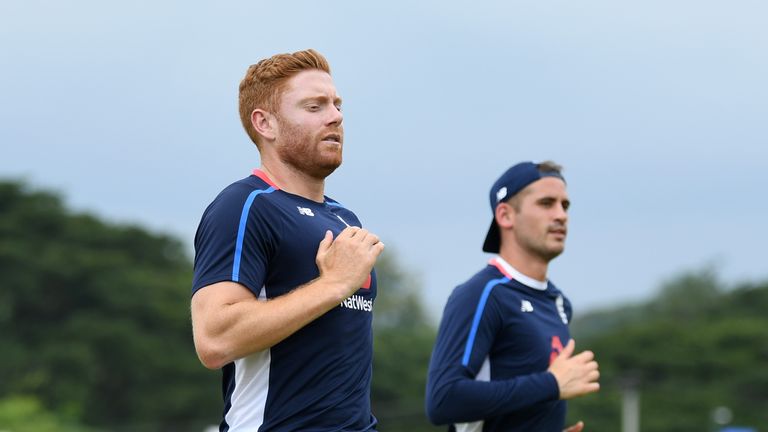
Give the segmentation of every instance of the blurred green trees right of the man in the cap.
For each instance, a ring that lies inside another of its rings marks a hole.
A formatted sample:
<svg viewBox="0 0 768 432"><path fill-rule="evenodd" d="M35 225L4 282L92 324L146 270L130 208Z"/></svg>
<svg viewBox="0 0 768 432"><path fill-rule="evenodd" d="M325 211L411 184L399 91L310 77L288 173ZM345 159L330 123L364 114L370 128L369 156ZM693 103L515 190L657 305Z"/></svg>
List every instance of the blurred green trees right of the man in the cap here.
<svg viewBox="0 0 768 432"><path fill-rule="evenodd" d="M589 430L620 430L622 390L634 382L644 432L713 430L718 406L739 424L768 424L765 310L768 284L728 290L705 269L667 282L644 305L587 314L574 337L595 352L602 388L571 401L569 417ZM598 332L591 320L613 325Z"/></svg>

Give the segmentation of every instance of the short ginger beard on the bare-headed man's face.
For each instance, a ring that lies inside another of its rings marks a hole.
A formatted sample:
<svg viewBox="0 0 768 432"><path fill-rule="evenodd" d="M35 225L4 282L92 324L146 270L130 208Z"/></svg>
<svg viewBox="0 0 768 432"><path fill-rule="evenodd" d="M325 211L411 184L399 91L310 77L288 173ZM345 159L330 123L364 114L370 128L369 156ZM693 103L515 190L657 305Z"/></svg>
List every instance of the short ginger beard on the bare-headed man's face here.
<svg viewBox="0 0 768 432"><path fill-rule="evenodd" d="M286 164L316 179L325 179L341 165L344 142L343 126L312 133L309 128L277 118L282 143L277 154ZM337 134L339 142L324 141L329 134Z"/></svg>

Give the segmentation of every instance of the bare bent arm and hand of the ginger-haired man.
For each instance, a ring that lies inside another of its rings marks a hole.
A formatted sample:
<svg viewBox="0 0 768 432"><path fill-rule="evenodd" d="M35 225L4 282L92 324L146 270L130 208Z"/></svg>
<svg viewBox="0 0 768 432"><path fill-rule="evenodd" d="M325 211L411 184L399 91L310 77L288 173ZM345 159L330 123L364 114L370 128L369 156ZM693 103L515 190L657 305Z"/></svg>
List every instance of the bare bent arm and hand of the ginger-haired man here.
<svg viewBox="0 0 768 432"><path fill-rule="evenodd" d="M258 300L235 282L218 282L192 297L192 331L208 368L267 349L338 306L365 282L384 245L367 230L326 232L316 262L320 276L290 293Z"/></svg>

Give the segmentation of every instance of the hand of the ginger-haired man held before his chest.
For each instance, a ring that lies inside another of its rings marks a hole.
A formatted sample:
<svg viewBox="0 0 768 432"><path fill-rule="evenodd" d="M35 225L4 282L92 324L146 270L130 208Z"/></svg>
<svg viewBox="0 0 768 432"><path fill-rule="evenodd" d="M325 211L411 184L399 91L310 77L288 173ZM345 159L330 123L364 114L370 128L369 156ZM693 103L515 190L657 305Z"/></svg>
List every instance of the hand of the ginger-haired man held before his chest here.
<svg viewBox="0 0 768 432"><path fill-rule="evenodd" d="M338 286L344 300L363 286L383 250L379 237L366 229L347 227L335 239L326 231L315 258L320 278Z"/></svg>

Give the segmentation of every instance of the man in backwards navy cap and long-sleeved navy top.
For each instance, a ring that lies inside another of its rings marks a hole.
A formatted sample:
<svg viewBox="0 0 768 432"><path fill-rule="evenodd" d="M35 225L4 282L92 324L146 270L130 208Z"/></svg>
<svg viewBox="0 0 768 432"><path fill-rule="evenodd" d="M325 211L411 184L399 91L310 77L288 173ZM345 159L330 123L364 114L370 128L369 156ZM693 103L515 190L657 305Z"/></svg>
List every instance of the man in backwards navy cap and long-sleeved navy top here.
<svg viewBox="0 0 768 432"><path fill-rule="evenodd" d="M561 167L519 163L490 192L489 264L445 306L427 380L427 415L456 432L560 432L566 402L599 390L590 351L575 354L571 303L547 279L565 248ZM566 429L579 432L584 424Z"/></svg>

